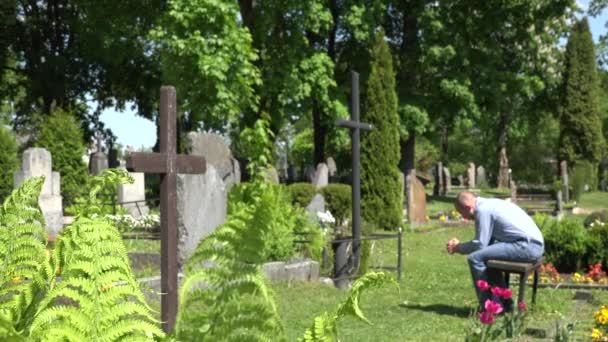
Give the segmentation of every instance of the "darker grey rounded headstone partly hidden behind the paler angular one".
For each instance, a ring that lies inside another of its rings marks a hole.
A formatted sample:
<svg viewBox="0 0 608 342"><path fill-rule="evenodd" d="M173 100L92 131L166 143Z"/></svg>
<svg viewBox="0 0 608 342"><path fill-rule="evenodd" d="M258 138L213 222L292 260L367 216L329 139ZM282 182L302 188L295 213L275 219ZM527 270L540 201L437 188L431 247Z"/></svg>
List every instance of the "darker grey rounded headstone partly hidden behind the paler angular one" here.
<svg viewBox="0 0 608 342"><path fill-rule="evenodd" d="M186 135L186 152L205 157L207 165L213 165L227 188L241 182L239 163L221 135L190 132Z"/></svg>

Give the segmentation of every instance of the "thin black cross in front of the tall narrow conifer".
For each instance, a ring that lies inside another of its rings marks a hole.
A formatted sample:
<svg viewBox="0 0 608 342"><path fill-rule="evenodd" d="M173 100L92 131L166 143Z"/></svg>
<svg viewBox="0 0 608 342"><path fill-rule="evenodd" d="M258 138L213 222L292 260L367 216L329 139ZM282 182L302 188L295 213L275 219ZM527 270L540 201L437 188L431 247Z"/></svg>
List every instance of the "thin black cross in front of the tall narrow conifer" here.
<svg viewBox="0 0 608 342"><path fill-rule="evenodd" d="M336 126L350 129L351 154L353 163L352 197L353 197L353 266L359 267L361 257L361 176L359 168L361 158L359 153L360 131L371 131L374 126L359 122L359 73L350 73L350 120L336 120Z"/></svg>

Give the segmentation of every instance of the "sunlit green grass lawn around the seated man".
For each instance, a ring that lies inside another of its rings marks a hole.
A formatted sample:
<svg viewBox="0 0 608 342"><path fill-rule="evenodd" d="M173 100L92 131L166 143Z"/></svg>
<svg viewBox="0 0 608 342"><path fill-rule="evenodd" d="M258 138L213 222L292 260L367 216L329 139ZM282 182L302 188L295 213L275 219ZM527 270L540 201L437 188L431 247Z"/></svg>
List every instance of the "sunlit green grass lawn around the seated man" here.
<svg viewBox="0 0 608 342"><path fill-rule="evenodd" d="M373 323L353 318L339 323L343 341L463 341L469 317L476 305L466 256L448 255L445 242L451 237L468 240L472 227L440 228L404 233L403 279L400 291L392 285L367 291L361 307ZM394 241L378 242L372 263L393 266ZM513 278L517 278L513 276ZM517 286L511 285L514 296ZM273 284L288 340L303 336L314 317L335 310L345 293L320 283ZM528 310L527 326L554 330L563 319L575 323L575 337L587 340L593 328L593 312L608 303L608 291L594 291L594 301L575 307L575 290L539 287L537 303ZM531 288L526 290L530 301Z"/></svg>

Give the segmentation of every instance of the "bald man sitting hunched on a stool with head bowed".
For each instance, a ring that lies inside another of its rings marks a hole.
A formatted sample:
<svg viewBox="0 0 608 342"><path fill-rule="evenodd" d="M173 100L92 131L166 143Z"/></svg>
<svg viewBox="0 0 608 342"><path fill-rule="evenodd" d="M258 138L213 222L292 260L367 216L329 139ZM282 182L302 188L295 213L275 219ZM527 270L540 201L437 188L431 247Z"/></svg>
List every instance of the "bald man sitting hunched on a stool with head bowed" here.
<svg viewBox="0 0 608 342"><path fill-rule="evenodd" d="M517 205L497 198L476 197L463 191L456 197L456 210L466 219L475 219L475 238L461 243L453 238L448 253L468 254L473 286L480 307L490 298L489 291L477 288L478 280L506 287L501 272L488 271L489 259L530 261L544 253L543 236L530 216ZM504 303L510 304L510 303Z"/></svg>

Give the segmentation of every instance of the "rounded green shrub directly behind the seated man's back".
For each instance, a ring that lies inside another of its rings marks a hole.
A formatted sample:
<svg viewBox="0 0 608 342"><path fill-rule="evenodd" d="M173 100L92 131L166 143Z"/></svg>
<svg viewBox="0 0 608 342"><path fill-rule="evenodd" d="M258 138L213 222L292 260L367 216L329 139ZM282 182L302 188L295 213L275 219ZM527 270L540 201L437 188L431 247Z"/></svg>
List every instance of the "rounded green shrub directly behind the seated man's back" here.
<svg viewBox="0 0 608 342"><path fill-rule="evenodd" d="M586 265L589 234L582 224L571 219L552 220L543 225L545 255L560 272L575 272Z"/></svg>

